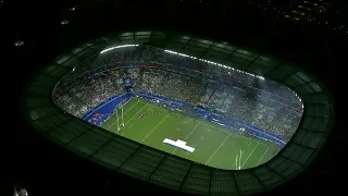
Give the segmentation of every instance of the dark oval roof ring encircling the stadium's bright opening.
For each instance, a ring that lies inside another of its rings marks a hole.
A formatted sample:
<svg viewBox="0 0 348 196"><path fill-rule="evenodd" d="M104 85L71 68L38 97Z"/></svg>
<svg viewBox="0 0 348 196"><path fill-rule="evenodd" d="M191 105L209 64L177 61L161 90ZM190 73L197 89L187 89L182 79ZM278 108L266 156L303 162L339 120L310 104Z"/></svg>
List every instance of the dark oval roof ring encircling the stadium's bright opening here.
<svg viewBox="0 0 348 196"><path fill-rule="evenodd" d="M206 63L284 84L303 102L297 132L276 157L264 164L240 171L222 170L105 132L53 103L53 89L76 66L104 49L138 45L197 57ZM334 123L330 93L300 68L227 42L170 32L113 34L62 54L28 84L23 107L26 119L40 134L90 161L170 189L202 195L247 195L286 183L310 166Z"/></svg>

